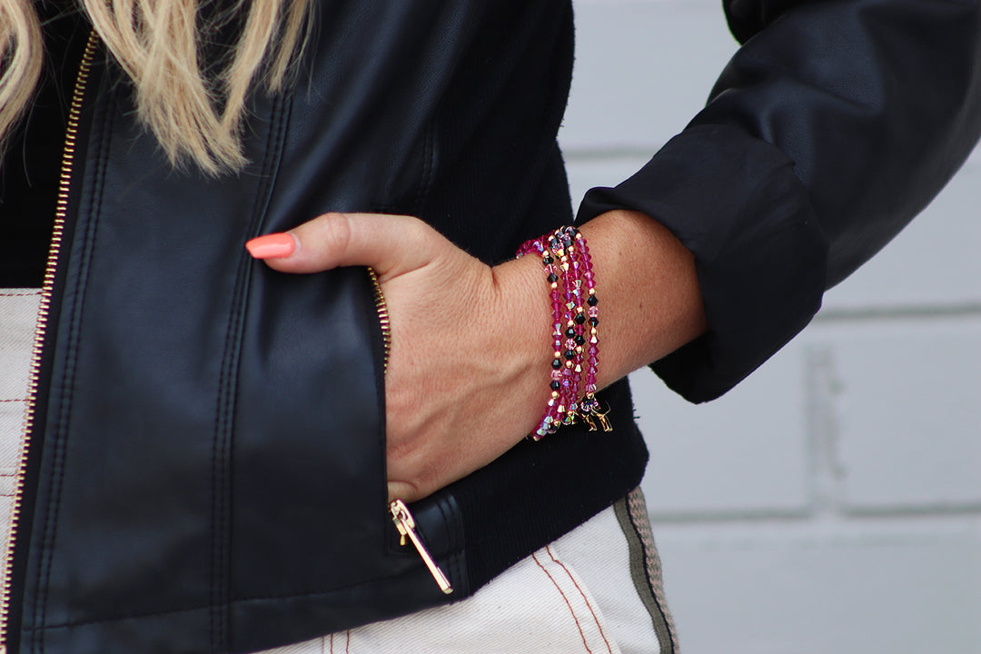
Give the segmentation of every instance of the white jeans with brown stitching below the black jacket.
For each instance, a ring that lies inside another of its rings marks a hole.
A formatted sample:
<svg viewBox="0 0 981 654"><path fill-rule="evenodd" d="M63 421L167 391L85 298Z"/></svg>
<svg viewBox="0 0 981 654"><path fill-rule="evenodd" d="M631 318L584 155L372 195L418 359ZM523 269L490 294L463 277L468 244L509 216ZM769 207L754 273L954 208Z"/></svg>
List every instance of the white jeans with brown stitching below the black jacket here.
<svg viewBox="0 0 981 654"><path fill-rule="evenodd" d="M24 425L39 300L36 290L0 289L0 525L4 527ZM467 599L261 654L677 651L644 496L637 489Z"/></svg>

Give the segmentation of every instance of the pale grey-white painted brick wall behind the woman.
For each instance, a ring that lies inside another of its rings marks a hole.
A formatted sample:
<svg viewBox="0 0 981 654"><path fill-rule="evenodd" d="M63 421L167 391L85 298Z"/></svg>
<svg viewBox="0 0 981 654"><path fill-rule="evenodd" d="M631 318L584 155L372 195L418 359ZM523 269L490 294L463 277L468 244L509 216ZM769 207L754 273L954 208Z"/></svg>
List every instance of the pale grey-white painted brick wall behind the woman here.
<svg viewBox="0 0 981 654"><path fill-rule="evenodd" d="M736 48L720 4L576 0L561 137L574 198L697 112ZM686 652L981 652L979 207L976 152L717 402L633 377Z"/></svg>

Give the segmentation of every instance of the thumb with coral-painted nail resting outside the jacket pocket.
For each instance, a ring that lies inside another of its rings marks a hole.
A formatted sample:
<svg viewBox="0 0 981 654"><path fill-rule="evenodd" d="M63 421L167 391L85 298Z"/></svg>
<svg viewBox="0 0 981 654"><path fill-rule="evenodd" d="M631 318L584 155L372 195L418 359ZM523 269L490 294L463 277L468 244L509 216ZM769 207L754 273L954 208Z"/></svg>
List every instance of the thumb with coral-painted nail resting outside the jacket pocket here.
<svg viewBox="0 0 981 654"><path fill-rule="evenodd" d="M371 266L384 281L428 264L441 239L411 216L330 213L286 232L253 238L245 247L283 273Z"/></svg>

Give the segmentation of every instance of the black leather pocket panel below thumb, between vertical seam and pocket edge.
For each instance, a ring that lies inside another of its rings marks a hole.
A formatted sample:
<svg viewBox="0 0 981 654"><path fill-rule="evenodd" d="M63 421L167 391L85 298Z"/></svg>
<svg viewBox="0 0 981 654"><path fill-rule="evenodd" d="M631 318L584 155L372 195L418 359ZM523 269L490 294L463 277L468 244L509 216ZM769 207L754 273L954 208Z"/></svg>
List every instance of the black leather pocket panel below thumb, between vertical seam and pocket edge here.
<svg viewBox="0 0 981 654"><path fill-rule="evenodd" d="M379 576L384 348L364 269L252 280L232 443L232 600Z"/></svg>

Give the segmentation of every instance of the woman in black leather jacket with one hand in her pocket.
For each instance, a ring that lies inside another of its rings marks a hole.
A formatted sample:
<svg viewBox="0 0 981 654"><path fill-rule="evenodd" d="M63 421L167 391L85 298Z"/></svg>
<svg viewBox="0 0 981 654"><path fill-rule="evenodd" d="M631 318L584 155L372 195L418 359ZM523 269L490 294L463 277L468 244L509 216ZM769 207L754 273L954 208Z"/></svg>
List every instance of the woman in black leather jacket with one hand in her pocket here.
<svg viewBox="0 0 981 654"><path fill-rule="evenodd" d="M555 145L568 3L257 2L199 21L158 4L86 2L87 18L52 23L47 51L71 63L52 70L71 83L36 96L33 8L3 5L5 116L37 110L12 131L26 142L7 149L4 203L31 197L35 164L59 179L18 214L32 224L47 202L58 218L34 275L9 651L246 652L369 623L404 638L417 620L441 626L420 645L436 651L442 633L458 644L468 602L523 600L519 573L579 549L583 577L636 567L639 592L619 594L669 651L632 491L645 449L617 379L656 361L690 399L725 392L981 131L976 3L727 3L746 45L706 109L580 210L603 387L584 418L613 430L547 433L566 314L542 261L575 257L547 241L512 257L571 222ZM59 100L74 109L60 173L32 147ZM25 152L32 176L10 181ZM569 360L588 390L592 357ZM394 499L414 528L397 510L392 524ZM645 651L603 629L619 605L580 592L607 619L574 622L574 640Z"/></svg>

